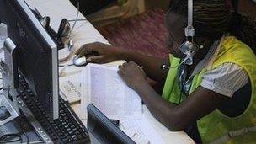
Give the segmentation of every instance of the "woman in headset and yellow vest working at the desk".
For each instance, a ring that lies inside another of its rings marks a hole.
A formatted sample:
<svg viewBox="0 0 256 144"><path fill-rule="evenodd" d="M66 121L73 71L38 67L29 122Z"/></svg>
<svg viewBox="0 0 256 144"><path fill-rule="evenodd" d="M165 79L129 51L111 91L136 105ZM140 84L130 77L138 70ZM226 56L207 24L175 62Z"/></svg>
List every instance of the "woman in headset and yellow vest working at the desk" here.
<svg viewBox="0 0 256 144"><path fill-rule="evenodd" d="M256 46L255 27L248 28L255 23L233 13L226 0L195 0L194 39L200 50L189 66L180 63L184 54L179 50L187 6L187 0L173 0L166 15L169 58L101 43L83 45L77 54L97 51L99 56L88 58L96 63L129 61L119 67L120 77L171 131L187 131L197 143L256 141L256 56L248 47ZM146 76L165 83L162 97Z"/></svg>

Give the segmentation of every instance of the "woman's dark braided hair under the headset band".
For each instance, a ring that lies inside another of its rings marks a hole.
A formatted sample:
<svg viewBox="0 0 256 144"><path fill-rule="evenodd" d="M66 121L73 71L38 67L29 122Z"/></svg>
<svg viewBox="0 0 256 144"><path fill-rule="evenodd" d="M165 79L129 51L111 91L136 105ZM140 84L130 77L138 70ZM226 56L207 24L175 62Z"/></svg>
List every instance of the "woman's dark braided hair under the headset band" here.
<svg viewBox="0 0 256 144"><path fill-rule="evenodd" d="M194 0L195 37L221 39L223 34L236 36L256 53L256 21L237 13L227 0ZM172 0L171 11L187 17L188 0Z"/></svg>

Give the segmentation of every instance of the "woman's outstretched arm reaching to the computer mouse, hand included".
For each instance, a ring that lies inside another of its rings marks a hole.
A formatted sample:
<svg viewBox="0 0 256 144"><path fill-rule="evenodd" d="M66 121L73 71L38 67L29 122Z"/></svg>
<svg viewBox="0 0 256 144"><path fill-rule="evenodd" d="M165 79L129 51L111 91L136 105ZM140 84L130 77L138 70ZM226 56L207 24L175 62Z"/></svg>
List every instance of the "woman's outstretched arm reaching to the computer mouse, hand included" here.
<svg viewBox="0 0 256 144"><path fill-rule="evenodd" d="M94 63L107 63L116 60L136 61L147 72L147 77L164 83L168 71L161 70L163 64L169 65L168 57L160 59L153 56L145 56L137 51L127 50L115 45L106 45L103 43L91 43L83 45L76 54L78 56L86 56L91 52L99 53L99 56L90 56L88 61Z"/></svg>

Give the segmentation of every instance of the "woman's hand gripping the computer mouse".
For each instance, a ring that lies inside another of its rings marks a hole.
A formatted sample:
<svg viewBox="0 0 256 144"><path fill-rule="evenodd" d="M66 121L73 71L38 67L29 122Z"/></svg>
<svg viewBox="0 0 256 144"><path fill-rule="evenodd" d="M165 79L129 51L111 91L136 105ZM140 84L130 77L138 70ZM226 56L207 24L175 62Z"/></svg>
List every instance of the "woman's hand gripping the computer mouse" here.
<svg viewBox="0 0 256 144"><path fill-rule="evenodd" d="M124 52L124 49L121 49L120 47L95 42L83 45L75 54L79 57L88 56L88 62L108 63L122 59L122 52ZM97 53L97 55L92 56L93 53Z"/></svg>

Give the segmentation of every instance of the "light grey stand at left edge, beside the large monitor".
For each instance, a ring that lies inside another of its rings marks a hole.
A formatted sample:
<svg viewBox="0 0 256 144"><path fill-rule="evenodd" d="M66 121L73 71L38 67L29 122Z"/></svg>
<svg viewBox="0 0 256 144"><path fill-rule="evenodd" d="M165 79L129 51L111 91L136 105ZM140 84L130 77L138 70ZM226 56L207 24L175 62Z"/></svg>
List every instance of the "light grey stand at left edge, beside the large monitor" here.
<svg viewBox="0 0 256 144"><path fill-rule="evenodd" d="M3 77L3 93L0 95L0 126L19 116L17 102L18 72L15 57L16 45L7 38L4 41L4 61L0 61L0 71ZM17 75L17 76L16 76Z"/></svg>

